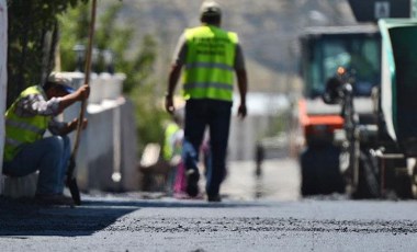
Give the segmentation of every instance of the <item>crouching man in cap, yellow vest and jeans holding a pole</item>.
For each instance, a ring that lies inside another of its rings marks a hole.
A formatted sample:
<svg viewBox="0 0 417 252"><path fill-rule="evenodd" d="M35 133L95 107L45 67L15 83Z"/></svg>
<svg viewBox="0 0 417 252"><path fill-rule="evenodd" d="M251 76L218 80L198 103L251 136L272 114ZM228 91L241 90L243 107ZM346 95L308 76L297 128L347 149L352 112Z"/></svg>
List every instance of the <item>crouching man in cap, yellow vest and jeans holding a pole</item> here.
<svg viewBox="0 0 417 252"><path fill-rule="evenodd" d="M90 89L81 85L74 90L70 82L52 73L43 85L25 89L5 112L3 173L25 176L38 171L35 199L43 204L72 204L63 192L71 152L67 134L77 129L78 119L65 123L54 116L87 99ZM82 122L86 127L87 119ZM46 129L52 136L44 138Z"/></svg>

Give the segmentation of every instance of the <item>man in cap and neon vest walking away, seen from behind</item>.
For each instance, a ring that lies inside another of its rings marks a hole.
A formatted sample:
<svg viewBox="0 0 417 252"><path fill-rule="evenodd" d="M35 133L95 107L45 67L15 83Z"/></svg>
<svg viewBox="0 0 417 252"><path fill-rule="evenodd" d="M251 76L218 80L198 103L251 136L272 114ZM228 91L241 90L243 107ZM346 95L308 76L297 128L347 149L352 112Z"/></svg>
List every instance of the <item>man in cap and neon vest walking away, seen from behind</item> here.
<svg viewBox="0 0 417 252"><path fill-rule="evenodd" d="M166 110L172 114L176 110L172 95L184 67L183 94L187 103L182 156L187 168L187 193L192 197L199 194L199 147L208 126L212 152L205 186L208 202L221 202L235 72L240 93L238 116L246 116L247 76L243 50L237 34L219 27L221 19L218 3L203 2L202 24L185 30L179 38L166 94Z"/></svg>

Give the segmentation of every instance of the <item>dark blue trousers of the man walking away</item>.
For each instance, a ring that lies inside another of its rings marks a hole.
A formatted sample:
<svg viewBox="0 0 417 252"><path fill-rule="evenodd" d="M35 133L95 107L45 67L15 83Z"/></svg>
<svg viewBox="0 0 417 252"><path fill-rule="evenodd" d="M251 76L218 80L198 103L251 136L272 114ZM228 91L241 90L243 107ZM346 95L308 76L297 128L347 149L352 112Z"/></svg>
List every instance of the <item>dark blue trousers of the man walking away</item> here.
<svg viewBox="0 0 417 252"><path fill-rule="evenodd" d="M188 100L185 104L184 146L185 168L198 171L199 151L206 126L210 129L212 165L207 170L206 194L218 195L226 170L226 150L230 126L232 102Z"/></svg>

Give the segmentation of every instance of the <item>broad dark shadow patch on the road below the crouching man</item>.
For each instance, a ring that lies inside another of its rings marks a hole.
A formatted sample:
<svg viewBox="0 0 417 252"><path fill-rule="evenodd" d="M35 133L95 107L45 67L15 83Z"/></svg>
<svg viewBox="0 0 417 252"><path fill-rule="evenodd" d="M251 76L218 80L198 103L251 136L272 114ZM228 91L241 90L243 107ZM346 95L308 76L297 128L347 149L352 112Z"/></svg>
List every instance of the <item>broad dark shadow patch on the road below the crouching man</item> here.
<svg viewBox="0 0 417 252"><path fill-rule="evenodd" d="M0 199L1 236L90 236L134 208L100 206L42 206L33 202Z"/></svg>

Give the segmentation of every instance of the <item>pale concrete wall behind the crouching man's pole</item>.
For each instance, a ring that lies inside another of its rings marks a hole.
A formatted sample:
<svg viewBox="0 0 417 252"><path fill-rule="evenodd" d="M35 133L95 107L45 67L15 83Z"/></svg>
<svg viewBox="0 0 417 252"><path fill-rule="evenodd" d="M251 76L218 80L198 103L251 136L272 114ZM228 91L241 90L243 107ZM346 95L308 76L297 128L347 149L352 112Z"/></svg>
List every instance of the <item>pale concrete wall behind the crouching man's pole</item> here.
<svg viewBox="0 0 417 252"><path fill-rule="evenodd" d="M66 72L74 88L83 82L80 72ZM77 182L81 191L135 191L139 188L134 110L122 96L124 75L91 75L87 106L88 128L77 152ZM79 116L80 104L64 113L64 121ZM72 144L75 134L70 135Z"/></svg>

